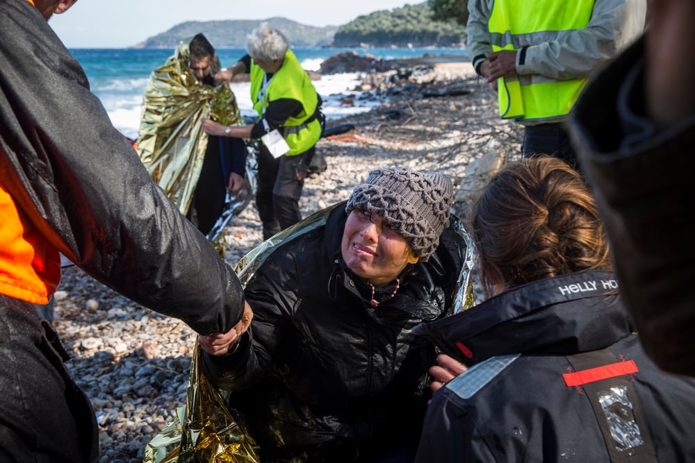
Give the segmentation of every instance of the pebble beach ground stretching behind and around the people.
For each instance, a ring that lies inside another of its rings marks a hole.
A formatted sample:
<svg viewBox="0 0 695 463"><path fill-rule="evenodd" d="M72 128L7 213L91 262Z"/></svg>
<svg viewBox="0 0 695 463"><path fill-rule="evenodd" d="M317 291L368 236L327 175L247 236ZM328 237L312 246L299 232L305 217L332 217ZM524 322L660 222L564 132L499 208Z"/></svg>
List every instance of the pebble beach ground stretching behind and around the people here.
<svg viewBox="0 0 695 463"><path fill-rule="evenodd" d="M300 201L305 217L347 199L371 169L396 165L448 174L457 186L453 212L465 217L489 172L518 155L523 132L499 119L496 94L470 62L424 64L409 76L361 76L359 97L381 103L328 124L354 128L316 145L328 167L306 179ZM253 203L231 220L224 239L224 260L232 267L261 242ZM97 414L99 461L142 462L146 444L186 402L195 332L76 267L63 270L55 308L54 327L72 355L68 368Z"/></svg>

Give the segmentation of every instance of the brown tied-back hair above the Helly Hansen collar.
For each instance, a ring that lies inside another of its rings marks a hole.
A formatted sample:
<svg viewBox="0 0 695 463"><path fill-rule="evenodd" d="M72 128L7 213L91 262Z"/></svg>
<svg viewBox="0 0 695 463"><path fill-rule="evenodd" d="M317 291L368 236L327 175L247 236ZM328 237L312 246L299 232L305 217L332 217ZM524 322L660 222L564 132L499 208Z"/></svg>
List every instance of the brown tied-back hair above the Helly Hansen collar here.
<svg viewBox="0 0 695 463"><path fill-rule="evenodd" d="M611 269L594 196L579 173L539 156L503 167L471 209L487 294L588 269Z"/></svg>

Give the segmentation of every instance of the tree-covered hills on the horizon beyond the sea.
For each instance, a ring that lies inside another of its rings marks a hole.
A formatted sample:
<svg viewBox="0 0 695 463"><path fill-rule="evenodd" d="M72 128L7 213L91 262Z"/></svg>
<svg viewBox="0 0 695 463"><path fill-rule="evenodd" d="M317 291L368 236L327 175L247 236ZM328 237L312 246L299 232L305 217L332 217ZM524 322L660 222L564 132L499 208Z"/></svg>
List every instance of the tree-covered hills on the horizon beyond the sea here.
<svg viewBox="0 0 695 463"><path fill-rule="evenodd" d="M184 37L204 33L220 49L245 48L246 35L266 21L291 47L459 47L466 41L464 0L427 0L363 15L343 26L306 26L290 19L189 21L133 48L172 49Z"/></svg>

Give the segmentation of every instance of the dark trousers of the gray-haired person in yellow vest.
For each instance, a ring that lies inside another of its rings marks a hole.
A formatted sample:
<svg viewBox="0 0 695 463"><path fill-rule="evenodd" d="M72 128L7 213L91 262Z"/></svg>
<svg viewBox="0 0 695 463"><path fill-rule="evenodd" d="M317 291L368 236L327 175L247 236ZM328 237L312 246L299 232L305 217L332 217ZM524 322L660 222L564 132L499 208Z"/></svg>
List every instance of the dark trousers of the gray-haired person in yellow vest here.
<svg viewBox="0 0 695 463"><path fill-rule="evenodd" d="M315 151L312 146L302 154L273 158L265 146L261 147L256 207L263 223L263 239L302 220L300 197Z"/></svg>

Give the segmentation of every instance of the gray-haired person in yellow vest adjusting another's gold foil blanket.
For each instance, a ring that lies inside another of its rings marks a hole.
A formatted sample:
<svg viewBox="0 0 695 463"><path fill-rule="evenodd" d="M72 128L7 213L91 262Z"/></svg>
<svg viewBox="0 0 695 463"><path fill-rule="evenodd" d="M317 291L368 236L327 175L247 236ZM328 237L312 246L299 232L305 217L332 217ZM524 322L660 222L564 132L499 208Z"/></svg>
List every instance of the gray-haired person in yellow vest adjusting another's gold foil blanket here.
<svg viewBox="0 0 695 463"><path fill-rule="evenodd" d="M247 39L247 55L215 74L215 83L250 74L259 120L247 126L224 126L212 119L202 124L208 135L261 140L256 206L263 239L268 239L302 220L299 200L323 115L321 98L284 35L264 22Z"/></svg>

